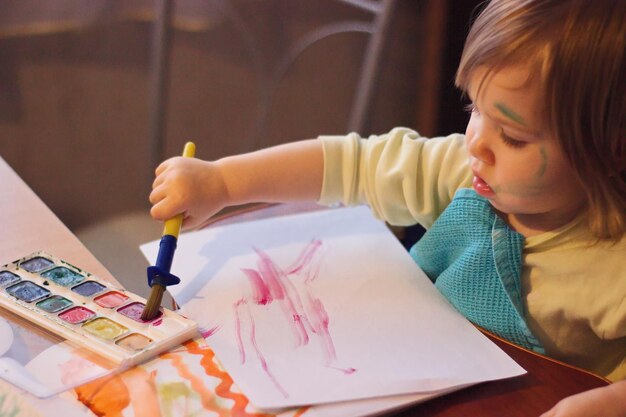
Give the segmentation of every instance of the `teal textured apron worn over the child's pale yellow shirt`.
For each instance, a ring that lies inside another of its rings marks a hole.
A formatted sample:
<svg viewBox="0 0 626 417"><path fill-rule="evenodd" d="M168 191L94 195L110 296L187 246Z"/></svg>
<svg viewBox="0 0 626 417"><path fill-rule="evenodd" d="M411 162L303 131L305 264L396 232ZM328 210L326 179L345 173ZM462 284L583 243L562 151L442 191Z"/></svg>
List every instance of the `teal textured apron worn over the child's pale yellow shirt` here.
<svg viewBox="0 0 626 417"><path fill-rule="evenodd" d="M524 237L472 189L450 205L411 248L411 256L468 320L544 353L525 320L520 273Z"/></svg>

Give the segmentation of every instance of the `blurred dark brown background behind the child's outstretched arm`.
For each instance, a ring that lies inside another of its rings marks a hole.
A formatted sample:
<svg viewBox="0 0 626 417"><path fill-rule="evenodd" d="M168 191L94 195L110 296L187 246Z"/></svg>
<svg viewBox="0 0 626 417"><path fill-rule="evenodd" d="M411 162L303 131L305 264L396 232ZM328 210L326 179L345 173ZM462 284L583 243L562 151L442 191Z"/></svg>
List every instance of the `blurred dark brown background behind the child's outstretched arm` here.
<svg viewBox="0 0 626 417"><path fill-rule="evenodd" d="M153 170L188 140L216 159L464 131L454 72L478 3L0 0L0 156L123 278L113 264L160 234Z"/></svg>

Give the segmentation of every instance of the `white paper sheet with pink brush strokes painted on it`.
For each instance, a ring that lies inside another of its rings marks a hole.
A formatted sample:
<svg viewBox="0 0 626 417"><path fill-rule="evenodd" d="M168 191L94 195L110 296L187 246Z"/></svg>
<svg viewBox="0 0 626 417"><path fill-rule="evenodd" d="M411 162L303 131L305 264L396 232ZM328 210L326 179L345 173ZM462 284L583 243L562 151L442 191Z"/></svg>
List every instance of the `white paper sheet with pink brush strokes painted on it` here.
<svg viewBox="0 0 626 417"><path fill-rule="evenodd" d="M158 241L141 246L154 262ZM369 210L181 235L169 287L262 409L436 394L524 373Z"/></svg>

